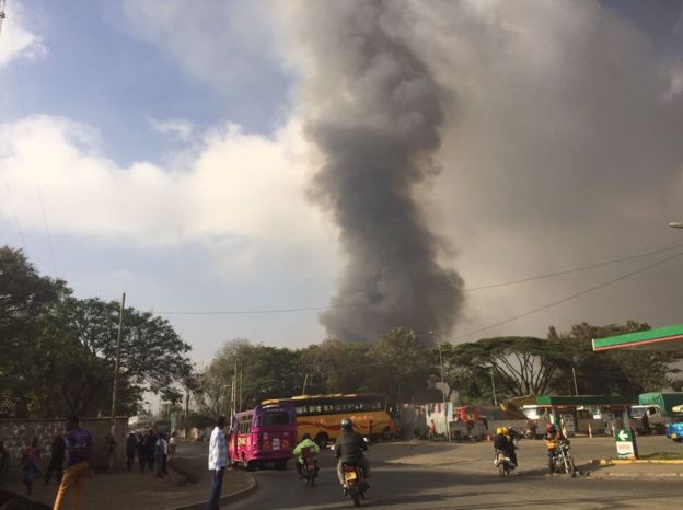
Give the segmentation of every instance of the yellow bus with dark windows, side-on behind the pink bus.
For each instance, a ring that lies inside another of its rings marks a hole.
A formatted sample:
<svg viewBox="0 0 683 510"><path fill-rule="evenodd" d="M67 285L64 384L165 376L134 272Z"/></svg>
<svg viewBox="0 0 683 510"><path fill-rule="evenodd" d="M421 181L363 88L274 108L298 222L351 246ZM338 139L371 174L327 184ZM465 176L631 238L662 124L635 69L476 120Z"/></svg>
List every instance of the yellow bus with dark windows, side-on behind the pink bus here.
<svg viewBox="0 0 683 510"><path fill-rule="evenodd" d="M310 433L321 448L337 439L344 418L350 418L354 430L369 438L390 439L397 432L396 406L381 393L299 395L264 401L263 404L280 402L294 404L298 440Z"/></svg>

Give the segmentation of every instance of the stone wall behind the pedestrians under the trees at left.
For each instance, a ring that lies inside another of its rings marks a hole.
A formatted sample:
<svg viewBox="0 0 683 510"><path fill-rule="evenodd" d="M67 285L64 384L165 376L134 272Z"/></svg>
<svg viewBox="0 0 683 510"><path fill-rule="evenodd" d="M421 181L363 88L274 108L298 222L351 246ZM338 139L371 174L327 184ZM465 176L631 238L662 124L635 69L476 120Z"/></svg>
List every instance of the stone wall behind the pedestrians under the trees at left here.
<svg viewBox="0 0 683 510"><path fill-rule="evenodd" d="M95 470L108 468L108 459L104 451L104 438L109 433L111 418L81 418L80 426L93 437L95 451ZM42 450L40 468L47 467L50 454L50 444L55 431L66 433L66 419L0 419L0 441L10 452L11 476L21 471L21 451L31 444L33 438L38 438ZM123 470L126 464L126 437L128 434L128 418L116 418L116 450L114 451L114 468Z"/></svg>

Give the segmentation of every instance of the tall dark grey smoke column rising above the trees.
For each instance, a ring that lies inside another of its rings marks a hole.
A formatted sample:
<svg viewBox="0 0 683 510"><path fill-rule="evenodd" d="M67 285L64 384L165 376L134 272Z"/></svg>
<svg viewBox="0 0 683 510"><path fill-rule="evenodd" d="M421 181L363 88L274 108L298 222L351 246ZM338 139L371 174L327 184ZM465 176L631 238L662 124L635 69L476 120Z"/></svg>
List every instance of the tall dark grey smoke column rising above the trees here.
<svg viewBox="0 0 683 510"><path fill-rule="evenodd" d="M348 264L323 312L327 333L368 340L395 326L448 334L463 303L460 276L438 262L440 240L416 202L437 172L442 89L404 38L395 2L308 2L314 62L306 134L324 163L313 197L339 228Z"/></svg>

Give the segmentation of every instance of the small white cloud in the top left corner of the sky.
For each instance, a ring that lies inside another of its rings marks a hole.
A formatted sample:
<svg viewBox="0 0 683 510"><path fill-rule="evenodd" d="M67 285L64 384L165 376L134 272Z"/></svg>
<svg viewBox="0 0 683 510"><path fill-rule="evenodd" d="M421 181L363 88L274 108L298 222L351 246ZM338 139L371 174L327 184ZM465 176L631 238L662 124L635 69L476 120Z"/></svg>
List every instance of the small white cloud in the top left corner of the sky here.
<svg viewBox="0 0 683 510"><path fill-rule="evenodd" d="M0 33L0 68L16 58L38 59L47 54L43 38L25 26L22 4L10 2Z"/></svg>

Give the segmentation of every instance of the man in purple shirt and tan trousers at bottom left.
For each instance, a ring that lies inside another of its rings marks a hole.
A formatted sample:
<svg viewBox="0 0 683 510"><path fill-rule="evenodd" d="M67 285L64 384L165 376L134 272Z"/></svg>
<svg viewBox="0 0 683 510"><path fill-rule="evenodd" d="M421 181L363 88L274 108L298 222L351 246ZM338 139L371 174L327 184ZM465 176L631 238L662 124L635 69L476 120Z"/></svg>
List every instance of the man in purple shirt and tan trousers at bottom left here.
<svg viewBox="0 0 683 510"><path fill-rule="evenodd" d="M85 429L79 427L77 417L69 418L67 422L67 468L57 489L53 510L60 510L65 496L69 494L71 505L69 510L81 510L81 497L86 478L93 474L93 441L92 436Z"/></svg>

